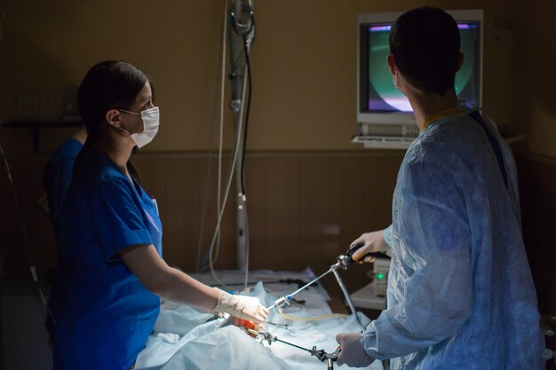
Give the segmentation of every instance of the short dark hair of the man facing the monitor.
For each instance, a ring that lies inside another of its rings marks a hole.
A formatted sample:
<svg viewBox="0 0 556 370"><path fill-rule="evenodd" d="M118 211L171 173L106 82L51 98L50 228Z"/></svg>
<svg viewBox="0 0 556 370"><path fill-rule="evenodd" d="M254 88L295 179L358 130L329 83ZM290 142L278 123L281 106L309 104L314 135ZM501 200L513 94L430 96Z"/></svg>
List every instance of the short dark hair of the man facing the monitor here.
<svg viewBox="0 0 556 370"><path fill-rule="evenodd" d="M460 39L447 12L430 6L404 12L389 42L396 67L412 86L441 96L454 87Z"/></svg>

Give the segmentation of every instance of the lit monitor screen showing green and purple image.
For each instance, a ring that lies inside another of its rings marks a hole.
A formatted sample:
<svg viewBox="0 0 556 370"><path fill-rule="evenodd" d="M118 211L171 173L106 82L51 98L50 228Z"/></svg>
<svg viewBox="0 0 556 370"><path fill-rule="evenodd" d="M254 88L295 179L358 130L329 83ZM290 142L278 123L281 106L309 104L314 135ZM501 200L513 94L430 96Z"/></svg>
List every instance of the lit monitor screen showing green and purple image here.
<svg viewBox="0 0 556 370"><path fill-rule="evenodd" d="M393 85L386 62L392 23L393 20L360 20L359 117L364 114L412 115L409 100ZM460 50L465 54L464 64L456 75L457 97L466 106L481 106L481 20L457 20L457 26L461 36ZM372 122L372 119L359 121Z"/></svg>

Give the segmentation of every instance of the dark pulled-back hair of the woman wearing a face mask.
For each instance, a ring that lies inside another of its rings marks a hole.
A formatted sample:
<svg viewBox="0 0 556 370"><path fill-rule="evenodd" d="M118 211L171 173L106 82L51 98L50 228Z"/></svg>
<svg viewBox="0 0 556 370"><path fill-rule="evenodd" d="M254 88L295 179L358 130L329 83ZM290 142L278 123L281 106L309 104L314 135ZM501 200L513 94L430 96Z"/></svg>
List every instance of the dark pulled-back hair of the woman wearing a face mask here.
<svg viewBox="0 0 556 370"><path fill-rule="evenodd" d="M111 108L127 108L148 82L147 75L131 63L107 60L91 67L77 91L79 114L91 138L107 127Z"/></svg>

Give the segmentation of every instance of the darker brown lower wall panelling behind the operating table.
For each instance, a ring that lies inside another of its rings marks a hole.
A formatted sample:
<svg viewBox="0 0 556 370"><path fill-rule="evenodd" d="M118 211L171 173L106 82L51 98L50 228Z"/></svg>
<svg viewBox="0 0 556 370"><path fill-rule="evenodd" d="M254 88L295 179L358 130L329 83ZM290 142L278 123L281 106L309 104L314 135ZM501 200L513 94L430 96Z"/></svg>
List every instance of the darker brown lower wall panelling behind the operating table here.
<svg viewBox="0 0 556 370"><path fill-rule="evenodd" d="M323 272L361 232L387 226L401 159L399 151L248 154L250 269L301 271L310 266L316 273ZM34 156L11 161L31 260L41 272L55 262L49 219L36 205L43 193L40 175L45 160L45 156ZM137 154L134 162L147 193L158 202L165 259L187 272L195 271L207 156ZM227 170L227 161L223 168ZM216 172L213 161L203 250L210 244L216 224ZM9 215L0 227L0 238L7 240L0 244L0 254L7 256L6 267L12 276L25 276L24 240L14 216L13 195L4 171L0 174L0 199L4 215ZM236 267L234 224L234 200L230 199L222 221L218 269ZM365 271L356 270L360 271L358 277ZM353 276L346 278L351 287Z"/></svg>

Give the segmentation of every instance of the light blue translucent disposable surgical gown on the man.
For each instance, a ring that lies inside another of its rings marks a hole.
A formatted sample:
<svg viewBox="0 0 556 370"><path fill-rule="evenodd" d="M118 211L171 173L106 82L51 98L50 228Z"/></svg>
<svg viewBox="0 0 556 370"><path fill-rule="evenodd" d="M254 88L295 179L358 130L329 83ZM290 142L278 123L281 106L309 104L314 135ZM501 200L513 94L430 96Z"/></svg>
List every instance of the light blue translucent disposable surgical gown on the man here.
<svg viewBox="0 0 556 370"><path fill-rule="evenodd" d="M467 113L431 123L409 146L393 194L387 309L361 335L391 368L540 370L544 338L508 186L485 130Z"/></svg>

